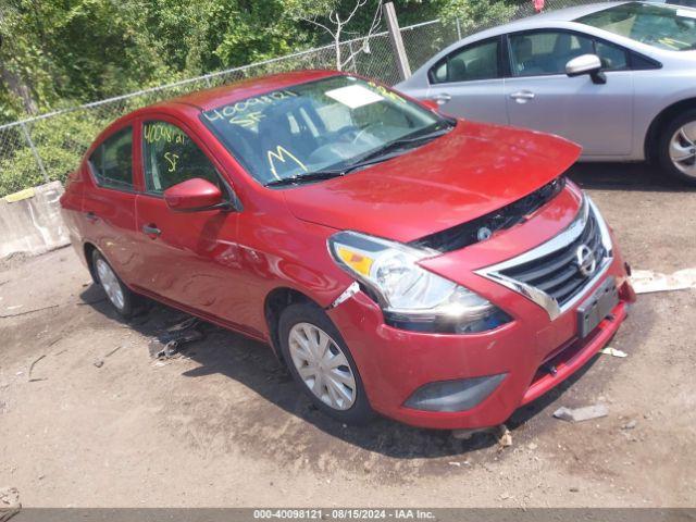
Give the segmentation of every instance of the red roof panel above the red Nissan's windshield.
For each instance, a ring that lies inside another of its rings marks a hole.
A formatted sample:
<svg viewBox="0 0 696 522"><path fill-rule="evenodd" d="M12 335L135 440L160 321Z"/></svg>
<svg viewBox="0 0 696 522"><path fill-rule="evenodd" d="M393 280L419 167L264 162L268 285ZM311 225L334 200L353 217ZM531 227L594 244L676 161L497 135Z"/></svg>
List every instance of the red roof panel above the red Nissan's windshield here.
<svg viewBox="0 0 696 522"><path fill-rule="evenodd" d="M246 98L259 96L297 84L304 84L315 79L325 78L340 74L337 71L295 71L291 73L273 74L257 78L247 78L233 84L223 85L206 90L198 90L178 98L157 103L157 105L169 103L184 103L196 107L202 111L208 111L221 105L234 103ZM154 107L157 107L154 105Z"/></svg>

